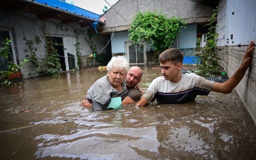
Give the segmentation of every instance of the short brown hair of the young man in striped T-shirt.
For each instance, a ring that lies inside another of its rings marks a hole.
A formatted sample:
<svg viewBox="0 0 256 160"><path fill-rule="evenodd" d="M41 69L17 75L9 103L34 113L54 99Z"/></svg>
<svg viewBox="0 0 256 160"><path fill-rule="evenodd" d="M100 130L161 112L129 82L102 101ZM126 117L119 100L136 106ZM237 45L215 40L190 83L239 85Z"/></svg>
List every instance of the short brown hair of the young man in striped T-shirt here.
<svg viewBox="0 0 256 160"><path fill-rule="evenodd" d="M169 48L163 51L159 56L159 62L172 62L177 65L183 61L183 52L177 48Z"/></svg>

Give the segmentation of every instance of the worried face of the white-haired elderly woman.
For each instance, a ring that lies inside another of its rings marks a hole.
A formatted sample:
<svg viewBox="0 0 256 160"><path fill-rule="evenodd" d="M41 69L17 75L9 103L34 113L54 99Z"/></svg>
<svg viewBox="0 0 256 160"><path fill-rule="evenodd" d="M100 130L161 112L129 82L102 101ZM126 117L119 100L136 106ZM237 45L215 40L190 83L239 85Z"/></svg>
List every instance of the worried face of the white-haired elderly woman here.
<svg viewBox="0 0 256 160"><path fill-rule="evenodd" d="M126 73L124 69L112 68L108 71L108 79L114 88L118 88L121 86L123 80L126 77Z"/></svg>

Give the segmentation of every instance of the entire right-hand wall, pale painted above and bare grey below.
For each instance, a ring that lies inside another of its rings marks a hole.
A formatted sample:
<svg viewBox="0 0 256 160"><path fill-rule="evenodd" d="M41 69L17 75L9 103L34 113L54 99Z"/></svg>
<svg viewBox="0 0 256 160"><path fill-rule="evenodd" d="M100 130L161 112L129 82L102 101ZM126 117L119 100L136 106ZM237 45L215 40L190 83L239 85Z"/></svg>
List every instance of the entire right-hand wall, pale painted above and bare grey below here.
<svg viewBox="0 0 256 160"><path fill-rule="evenodd" d="M216 27L216 32L219 33L217 52L222 59L220 64L230 77L240 66L247 45L250 41L256 42L256 1L221 0L219 6L218 27ZM254 54L255 50L252 53L250 68L235 89L256 123L256 59Z"/></svg>

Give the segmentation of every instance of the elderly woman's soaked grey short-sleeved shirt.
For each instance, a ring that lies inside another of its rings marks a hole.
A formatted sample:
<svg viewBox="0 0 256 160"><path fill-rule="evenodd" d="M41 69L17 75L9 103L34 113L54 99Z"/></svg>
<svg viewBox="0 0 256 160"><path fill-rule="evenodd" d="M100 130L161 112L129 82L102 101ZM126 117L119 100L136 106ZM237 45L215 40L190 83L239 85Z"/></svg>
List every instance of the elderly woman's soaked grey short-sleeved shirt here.
<svg viewBox="0 0 256 160"><path fill-rule="evenodd" d="M121 97L123 99L128 93L126 79L124 79L121 85L122 90L119 92L110 84L108 75L96 80L86 95L86 98L92 102L92 111L105 111L111 98Z"/></svg>

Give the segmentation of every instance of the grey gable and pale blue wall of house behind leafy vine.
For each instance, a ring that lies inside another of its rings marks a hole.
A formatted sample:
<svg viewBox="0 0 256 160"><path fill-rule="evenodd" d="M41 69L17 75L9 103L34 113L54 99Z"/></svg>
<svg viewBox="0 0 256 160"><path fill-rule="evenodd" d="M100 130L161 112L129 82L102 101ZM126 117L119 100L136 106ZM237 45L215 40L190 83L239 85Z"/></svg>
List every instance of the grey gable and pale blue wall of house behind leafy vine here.
<svg viewBox="0 0 256 160"><path fill-rule="evenodd" d="M196 24L207 22L213 13L212 8L191 0L119 0L113 8L102 15L102 17L106 18L106 24L99 29L99 32L102 31L104 33L114 31L114 37L111 40L113 55L125 52L124 42L128 38L127 30L130 28L138 11L143 13L144 11L158 10L166 14L167 17L180 17L188 23L189 26L186 29L182 28L183 33L180 34L179 45L185 56L194 56ZM118 34L122 35L122 37ZM191 40L194 42L191 42ZM154 48L147 45L147 51L152 49L154 50Z"/></svg>

